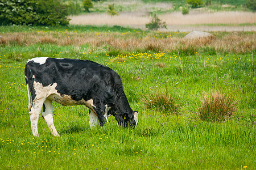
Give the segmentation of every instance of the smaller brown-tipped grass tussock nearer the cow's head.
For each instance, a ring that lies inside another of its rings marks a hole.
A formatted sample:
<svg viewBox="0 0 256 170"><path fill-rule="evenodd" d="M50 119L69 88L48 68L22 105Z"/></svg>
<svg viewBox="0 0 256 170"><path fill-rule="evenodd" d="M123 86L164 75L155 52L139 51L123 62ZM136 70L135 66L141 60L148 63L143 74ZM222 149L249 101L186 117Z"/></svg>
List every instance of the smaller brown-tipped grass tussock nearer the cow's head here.
<svg viewBox="0 0 256 170"><path fill-rule="evenodd" d="M181 101L178 100L171 91L165 88L151 90L150 93L142 96L141 100L146 109L174 114L180 111Z"/></svg>

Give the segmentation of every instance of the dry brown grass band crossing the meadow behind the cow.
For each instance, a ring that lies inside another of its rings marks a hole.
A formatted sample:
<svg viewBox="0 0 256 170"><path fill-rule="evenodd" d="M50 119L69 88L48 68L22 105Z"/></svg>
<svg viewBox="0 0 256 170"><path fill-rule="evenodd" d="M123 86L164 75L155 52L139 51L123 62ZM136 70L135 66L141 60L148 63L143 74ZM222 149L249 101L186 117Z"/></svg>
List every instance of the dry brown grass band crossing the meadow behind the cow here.
<svg viewBox="0 0 256 170"><path fill-rule="evenodd" d="M251 33L228 33L226 35L200 38L183 39L181 37L167 37L156 39L153 33L148 33L145 37L135 37L129 34L101 33L59 33L59 32L19 32L5 33L0 39L0 45L20 45L28 46L38 43L56 45L83 45L90 44L91 48L102 48L108 46L109 49L132 52L138 49L159 51L180 50L183 53L191 54L200 52L207 47L216 52L246 53L255 50L256 34Z"/></svg>

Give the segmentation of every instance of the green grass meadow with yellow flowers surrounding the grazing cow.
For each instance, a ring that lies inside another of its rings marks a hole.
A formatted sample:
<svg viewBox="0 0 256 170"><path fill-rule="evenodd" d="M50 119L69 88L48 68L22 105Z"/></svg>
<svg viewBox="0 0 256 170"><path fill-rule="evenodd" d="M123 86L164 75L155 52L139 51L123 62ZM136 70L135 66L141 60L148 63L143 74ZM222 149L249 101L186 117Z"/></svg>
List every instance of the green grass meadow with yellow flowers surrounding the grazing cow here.
<svg viewBox="0 0 256 170"><path fill-rule="evenodd" d="M255 32L186 32L93 27L0 27L0 169L256 169ZM53 104L60 137L39 118L32 135L24 66L32 57L89 59L122 78L137 129L90 129L88 109ZM211 90L239 100L224 122L202 121ZM143 96L168 90L179 114L146 109Z"/></svg>

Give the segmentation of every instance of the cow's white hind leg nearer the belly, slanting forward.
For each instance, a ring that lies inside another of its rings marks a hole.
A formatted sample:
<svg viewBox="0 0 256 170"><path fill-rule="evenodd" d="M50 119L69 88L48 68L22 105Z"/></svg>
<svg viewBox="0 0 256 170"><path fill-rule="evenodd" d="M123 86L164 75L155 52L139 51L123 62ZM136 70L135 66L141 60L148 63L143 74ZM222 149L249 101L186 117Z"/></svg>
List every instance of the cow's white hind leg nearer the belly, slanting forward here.
<svg viewBox="0 0 256 170"><path fill-rule="evenodd" d="M59 136L59 134L57 133L57 130L53 124L53 113L52 113L52 100L48 100L46 99L46 101L44 101L43 104L43 113L42 113L42 117L44 118L44 120L46 121L49 130L51 131L51 133L53 134L53 136Z"/></svg>

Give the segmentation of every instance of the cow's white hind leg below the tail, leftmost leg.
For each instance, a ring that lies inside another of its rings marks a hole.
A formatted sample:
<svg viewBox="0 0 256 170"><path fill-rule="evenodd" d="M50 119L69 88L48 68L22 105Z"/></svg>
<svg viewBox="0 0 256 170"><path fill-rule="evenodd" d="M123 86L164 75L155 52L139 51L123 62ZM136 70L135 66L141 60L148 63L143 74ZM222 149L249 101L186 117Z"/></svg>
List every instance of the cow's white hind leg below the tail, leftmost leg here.
<svg viewBox="0 0 256 170"><path fill-rule="evenodd" d="M43 103L44 99L35 99L30 112L28 112L28 114L30 114L31 129L34 136L38 136L38 119L43 107Z"/></svg>

